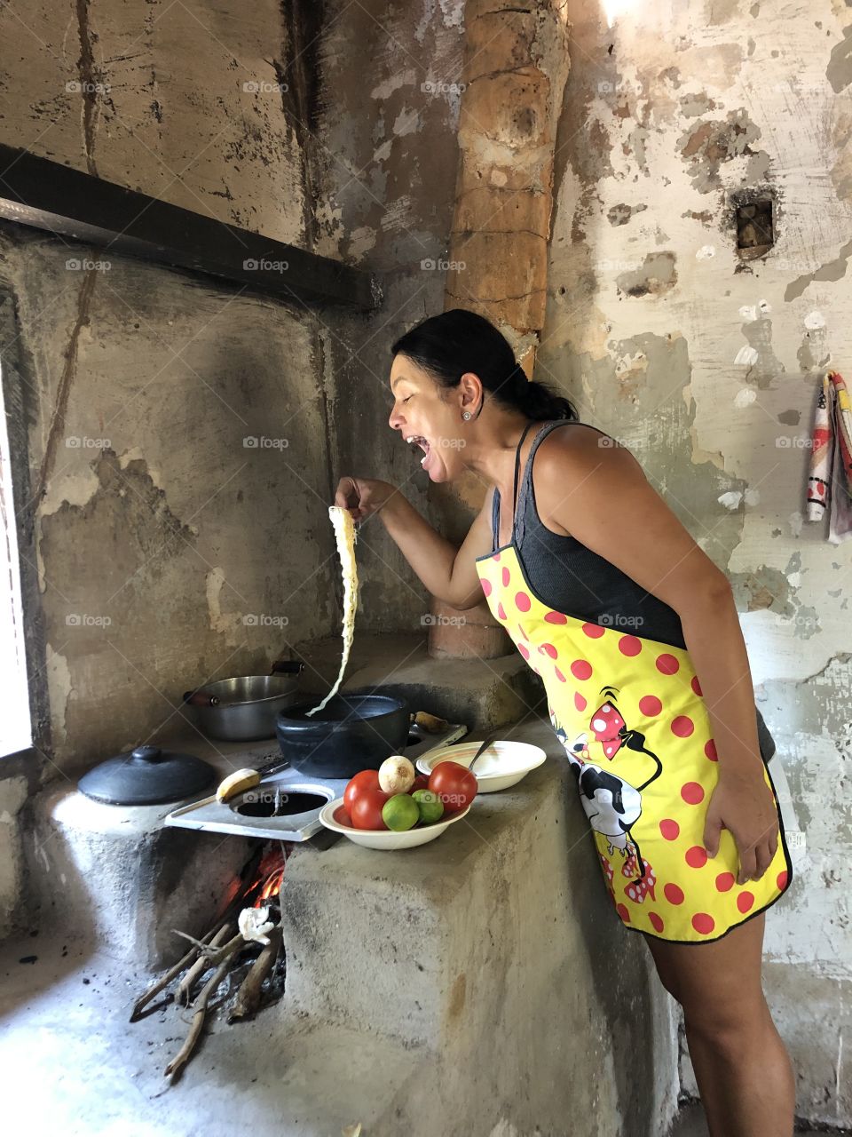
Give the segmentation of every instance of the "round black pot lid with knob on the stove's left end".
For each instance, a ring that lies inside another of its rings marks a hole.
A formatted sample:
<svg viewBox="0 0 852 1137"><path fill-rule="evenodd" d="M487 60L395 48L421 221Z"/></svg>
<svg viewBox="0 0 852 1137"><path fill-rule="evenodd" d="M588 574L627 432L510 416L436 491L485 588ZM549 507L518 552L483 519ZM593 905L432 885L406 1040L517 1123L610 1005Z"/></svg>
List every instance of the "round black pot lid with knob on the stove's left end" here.
<svg viewBox="0 0 852 1137"><path fill-rule="evenodd" d="M77 787L107 805L161 805L200 794L216 781L216 771L193 754L137 746L90 770Z"/></svg>

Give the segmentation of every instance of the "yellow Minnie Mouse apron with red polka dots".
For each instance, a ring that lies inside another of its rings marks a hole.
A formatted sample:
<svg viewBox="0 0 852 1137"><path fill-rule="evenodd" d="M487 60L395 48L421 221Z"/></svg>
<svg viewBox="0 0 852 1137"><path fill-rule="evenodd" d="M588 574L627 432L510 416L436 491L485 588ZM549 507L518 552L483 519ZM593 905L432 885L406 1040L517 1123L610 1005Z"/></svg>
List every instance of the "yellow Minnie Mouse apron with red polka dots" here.
<svg viewBox="0 0 852 1137"><path fill-rule="evenodd" d="M531 589L513 542L476 567L491 611L544 682L625 926L707 943L777 901L792 879L783 827L758 881L736 883L727 829L716 857L704 849L718 764L688 652L554 612ZM766 767L763 777L775 796Z"/></svg>

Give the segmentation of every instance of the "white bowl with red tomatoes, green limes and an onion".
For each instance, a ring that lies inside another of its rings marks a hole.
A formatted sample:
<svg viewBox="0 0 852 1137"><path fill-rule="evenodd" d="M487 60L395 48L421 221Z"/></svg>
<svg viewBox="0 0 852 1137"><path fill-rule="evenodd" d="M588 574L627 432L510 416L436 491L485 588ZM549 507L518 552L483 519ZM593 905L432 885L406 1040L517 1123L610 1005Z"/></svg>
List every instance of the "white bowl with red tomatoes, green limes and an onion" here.
<svg viewBox="0 0 852 1137"><path fill-rule="evenodd" d="M442 763L432 774L417 774L408 758L392 755L378 770L361 770L343 797L328 802L319 820L356 845L404 849L434 841L470 810L476 774L457 763Z"/></svg>

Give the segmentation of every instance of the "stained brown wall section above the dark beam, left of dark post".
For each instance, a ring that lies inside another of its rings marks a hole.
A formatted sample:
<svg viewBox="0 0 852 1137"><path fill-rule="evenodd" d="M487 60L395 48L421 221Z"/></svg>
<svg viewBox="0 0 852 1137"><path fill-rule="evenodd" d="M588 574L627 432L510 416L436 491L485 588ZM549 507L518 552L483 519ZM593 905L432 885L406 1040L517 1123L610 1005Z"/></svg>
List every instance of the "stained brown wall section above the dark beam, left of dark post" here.
<svg viewBox="0 0 852 1137"><path fill-rule="evenodd" d="M254 0L250 15L233 0L7 6L3 142L299 243L289 32L277 0Z"/></svg>

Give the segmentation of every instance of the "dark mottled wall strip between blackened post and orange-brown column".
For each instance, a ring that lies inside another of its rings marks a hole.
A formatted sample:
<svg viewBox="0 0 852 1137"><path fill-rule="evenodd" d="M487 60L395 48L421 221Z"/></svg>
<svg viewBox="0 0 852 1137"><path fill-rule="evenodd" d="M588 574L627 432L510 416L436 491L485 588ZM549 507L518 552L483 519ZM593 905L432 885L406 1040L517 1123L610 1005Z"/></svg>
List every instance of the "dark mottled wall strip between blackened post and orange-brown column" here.
<svg viewBox="0 0 852 1137"><path fill-rule="evenodd" d="M393 340L444 306L463 8L328 0L318 52L315 250L379 271L385 288L375 316L325 319L335 474L385 479L437 524L428 475L387 425L387 376ZM419 630L428 596L377 517L360 528L358 551L359 628Z"/></svg>

